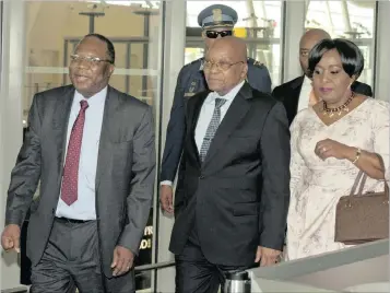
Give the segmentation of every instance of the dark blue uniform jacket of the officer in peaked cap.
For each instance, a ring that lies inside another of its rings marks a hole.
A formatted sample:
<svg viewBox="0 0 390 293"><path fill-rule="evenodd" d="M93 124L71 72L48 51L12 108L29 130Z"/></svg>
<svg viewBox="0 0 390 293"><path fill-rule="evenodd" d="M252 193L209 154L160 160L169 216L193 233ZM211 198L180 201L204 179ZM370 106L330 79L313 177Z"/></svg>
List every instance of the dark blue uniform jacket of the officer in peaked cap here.
<svg viewBox="0 0 390 293"><path fill-rule="evenodd" d="M202 62L203 58L198 59L186 65L179 72L167 127L159 180L175 180L176 171L182 153L182 140L186 133L186 101L194 94L208 89L203 70L201 70ZM271 93L271 78L267 67L251 58L248 58L248 82L253 89L260 92ZM175 200L177 200L177 197Z"/></svg>

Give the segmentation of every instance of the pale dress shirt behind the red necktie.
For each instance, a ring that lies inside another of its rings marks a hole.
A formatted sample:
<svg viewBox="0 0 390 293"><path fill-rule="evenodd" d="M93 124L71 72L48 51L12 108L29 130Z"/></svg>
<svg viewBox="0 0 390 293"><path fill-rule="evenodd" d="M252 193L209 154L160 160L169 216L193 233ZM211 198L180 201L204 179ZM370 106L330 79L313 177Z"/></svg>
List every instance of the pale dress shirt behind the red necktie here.
<svg viewBox="0 0 390 293"><path fill-rule="evenodd" d="M83 139L81 144L80 164L79 164L79 186L78 200L71 206L64 203L61 195L58 201L56 216L69 218L75 220L95 220L95 178L97 167L98 144L101 141L101 131L103 122L104 106L107 96L107 86L99 93L84 98L78 91L74 92L74 98L69 116L67 149L72 131L73 124L80 112L80 102L85 99L88 107L85 110L85 122ZM67 154L66 156L67 157Z"/></svg>

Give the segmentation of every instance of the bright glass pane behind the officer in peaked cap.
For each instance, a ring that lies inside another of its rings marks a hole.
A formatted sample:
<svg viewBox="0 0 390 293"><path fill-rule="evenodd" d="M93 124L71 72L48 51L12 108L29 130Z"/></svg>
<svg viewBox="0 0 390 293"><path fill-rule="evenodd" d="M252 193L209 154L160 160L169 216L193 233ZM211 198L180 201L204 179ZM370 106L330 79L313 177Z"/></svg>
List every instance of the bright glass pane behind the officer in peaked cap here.
<svg viewBox="0 0 390 293"><path fill-rule="evenodd" d="M204 45L198 14L212 4L221 4L221 1L187 1L186 63L203 57ZM248 56L264 63L270 71L272 85L279 85L282 1L224 1L224 4L237 11L235 35L247 40Z"/></svg>

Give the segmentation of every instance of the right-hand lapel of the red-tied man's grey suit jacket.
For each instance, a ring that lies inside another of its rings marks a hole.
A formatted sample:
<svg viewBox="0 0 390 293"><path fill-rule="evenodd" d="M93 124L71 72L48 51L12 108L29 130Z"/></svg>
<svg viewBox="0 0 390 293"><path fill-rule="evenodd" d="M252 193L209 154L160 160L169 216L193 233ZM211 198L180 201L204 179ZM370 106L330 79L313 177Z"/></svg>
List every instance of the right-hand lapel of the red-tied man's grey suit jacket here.
<svg viewBox="0 0 390 293"><path fill-rule="evenodd" d="M118 94L113 90L113 87L107 87L107 97L104 106L102 132L97 155L97 166L96 166L96 180L95 188L97 190L102 175L107 171L109 165L109 160L111 157L111 142L115 141L115 133L117 133L118 125L120 121L117 120L116 112L119 107Z"/></svg>

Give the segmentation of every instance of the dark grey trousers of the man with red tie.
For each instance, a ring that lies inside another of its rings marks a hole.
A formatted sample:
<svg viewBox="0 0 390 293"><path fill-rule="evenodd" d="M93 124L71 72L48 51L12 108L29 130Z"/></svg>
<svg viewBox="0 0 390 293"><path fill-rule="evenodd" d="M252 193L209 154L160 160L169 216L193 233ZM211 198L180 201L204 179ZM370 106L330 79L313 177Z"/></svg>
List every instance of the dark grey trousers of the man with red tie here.
<svg viewBox="0 0 390 293"><path fill-rule="evenodd" d="M114 254L114 251L113 251ZM32 267L33 293L132 293L133 271L116 278L102 273L96 221L56 219L44 256Z"/></svg>

